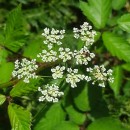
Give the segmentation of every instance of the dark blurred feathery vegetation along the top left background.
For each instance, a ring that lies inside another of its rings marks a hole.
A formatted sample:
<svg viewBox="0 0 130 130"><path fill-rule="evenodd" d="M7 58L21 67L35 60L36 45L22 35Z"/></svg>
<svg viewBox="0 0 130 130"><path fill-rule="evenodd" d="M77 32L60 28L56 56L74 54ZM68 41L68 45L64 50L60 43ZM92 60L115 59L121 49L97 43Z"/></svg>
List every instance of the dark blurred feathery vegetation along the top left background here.
<svg viewBox="0 0 130 130"><path fill-rule="evenodd" d="M4 26L8 12L19 4L26 26L32 32L39 32L45 26L69 28L83 20L78 0L0 0L0 26Z"/></svg>

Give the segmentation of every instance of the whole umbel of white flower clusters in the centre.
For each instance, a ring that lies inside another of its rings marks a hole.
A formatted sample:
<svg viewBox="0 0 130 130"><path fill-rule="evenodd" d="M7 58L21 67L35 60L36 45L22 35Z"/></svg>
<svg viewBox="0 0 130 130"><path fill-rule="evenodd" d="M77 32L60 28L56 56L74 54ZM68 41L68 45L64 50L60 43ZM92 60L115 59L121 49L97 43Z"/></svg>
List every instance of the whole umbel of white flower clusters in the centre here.
<svg viewBox="0 0 130 130"><path fill-rule="evenodd" d="M43 49L41 53L37 54L37 58L43 63L58 61L59 65L51 68L53 80L63 78L72 88L77 87L77 84L82 80L91 81L92 84L98 83L101 87L105 87L106 81L113 82L111 69L106 70L104 65L89 67L89 63L95 57L95 54L89 50L90 46L94 43L96 35L96 32L92 30L92 26L84 22L80 26L80 29L73 28L73 33L74 38L80 39L83 42L83 46L79 50L71 50L62 46L65 30L54 28L45 28L43 30L42 36L45 39L43 43L47 49ZM67 67L68 63L69 66L72 64L73 67ZM85 73L81 73L77 69L82 65L86 66ZM21 62L19 60L15 61L15 68L12 75L18 79L23 79L25 83L29 83L30 79L38 77L35 73L37 69L38 65L36 65L35 59L29 61L24 58ZM63 95L63 92L60 92L59 89L56 84L47 84L43 89L39 87L38 91L42 94L39 97L39 101L57 102L58 97Z"/></svg>

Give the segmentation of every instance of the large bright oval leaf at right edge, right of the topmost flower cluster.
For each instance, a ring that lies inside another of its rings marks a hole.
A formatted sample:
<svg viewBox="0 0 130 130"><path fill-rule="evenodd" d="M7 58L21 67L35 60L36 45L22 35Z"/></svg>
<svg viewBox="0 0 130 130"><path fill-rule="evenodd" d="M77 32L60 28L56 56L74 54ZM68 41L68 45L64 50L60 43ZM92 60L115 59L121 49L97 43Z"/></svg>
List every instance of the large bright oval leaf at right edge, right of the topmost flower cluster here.
<svg viewBox="0 0 130 130"><path fill-rule="evenodd" d="M113 56L130 62L130 45L124 38L110 32L103 33L103 43Z"/></svg>

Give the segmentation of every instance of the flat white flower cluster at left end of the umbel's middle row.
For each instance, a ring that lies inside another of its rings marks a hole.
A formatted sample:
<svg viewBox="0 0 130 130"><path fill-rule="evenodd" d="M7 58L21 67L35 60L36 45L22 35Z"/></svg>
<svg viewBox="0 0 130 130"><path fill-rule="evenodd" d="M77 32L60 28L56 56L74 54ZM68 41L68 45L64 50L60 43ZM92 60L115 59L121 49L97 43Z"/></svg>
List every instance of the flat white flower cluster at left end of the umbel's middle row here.
<svg viewBox="0 0 130 130"><path fill-rule="evenodd" d="M37 55L38 58L41 58L43 62L55 62L58 60L57 52L53 50L42 50L42 53Z"/></svg>

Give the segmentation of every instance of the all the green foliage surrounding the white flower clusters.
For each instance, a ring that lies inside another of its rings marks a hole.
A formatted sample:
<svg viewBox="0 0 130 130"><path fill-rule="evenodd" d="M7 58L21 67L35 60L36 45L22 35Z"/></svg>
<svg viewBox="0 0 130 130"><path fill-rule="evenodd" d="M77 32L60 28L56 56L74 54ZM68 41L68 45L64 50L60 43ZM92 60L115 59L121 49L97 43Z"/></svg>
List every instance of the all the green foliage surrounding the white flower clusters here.
<svg viewBox="0 0 130 130"><path fill-rule="evenodd" d="M130 129L129 0L0 0L0 5L0 130ZM63 47L80 50L84 43L73 37L72 28L83 22L91 22L97 32L88 48L95 58L87 67L113 68L114 82L105 88L84 81L70 88L64 77L54 80L50 68L60 63L88 75L86 66L37 58L47 49L41 36L46 26L67 29ZM14 62L23 58L37 60L41 77L30 83L12 78ZM45 89L47 83L64 92L58 103L38 101L38 87Z"/></svg>

